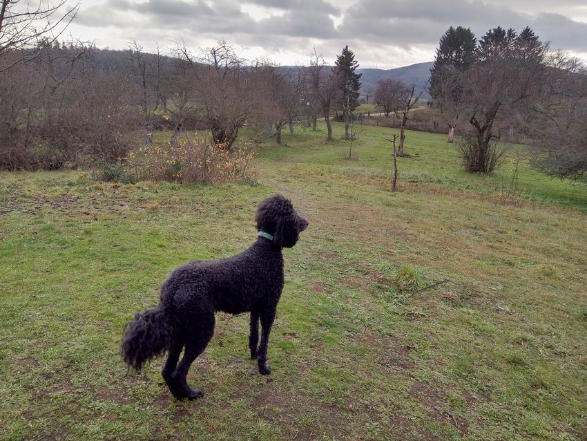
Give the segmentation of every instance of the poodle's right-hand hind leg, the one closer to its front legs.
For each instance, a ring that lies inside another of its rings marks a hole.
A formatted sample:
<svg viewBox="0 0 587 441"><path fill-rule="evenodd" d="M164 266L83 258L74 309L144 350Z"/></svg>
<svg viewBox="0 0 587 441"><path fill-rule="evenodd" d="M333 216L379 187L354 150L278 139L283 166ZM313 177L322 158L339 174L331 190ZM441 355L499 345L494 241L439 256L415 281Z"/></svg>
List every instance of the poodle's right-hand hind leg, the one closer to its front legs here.
<svg viewBox="0 0 587 441"><path fill-rule="evenodd" d="M186 329L187 339L185 341L184 356L182 361L177 364L175 372L171 375L171 382L174 386L177 386L175 391L170 388L171 393L178 400L182 400L182 398L195 400L204 396L204 393L199 389L194 390L188 386L186 377L191 364L208 346L208 342L214 334L214 312L199 314L191 320L189 328Z"/></svg>

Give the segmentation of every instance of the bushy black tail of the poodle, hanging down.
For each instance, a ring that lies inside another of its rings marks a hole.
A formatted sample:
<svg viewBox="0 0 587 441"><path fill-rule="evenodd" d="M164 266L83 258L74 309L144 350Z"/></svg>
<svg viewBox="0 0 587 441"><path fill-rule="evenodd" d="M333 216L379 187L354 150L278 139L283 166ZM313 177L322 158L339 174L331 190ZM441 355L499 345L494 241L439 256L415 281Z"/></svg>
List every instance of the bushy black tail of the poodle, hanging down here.
<svg viewBox="0 0 587 441"><path fill-rule="evenodd" d="M129 368L141 370L151 359L162 355L173 344L175 328L162 306L137 312L124 325L122 358Z"/></svg>

